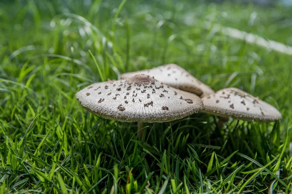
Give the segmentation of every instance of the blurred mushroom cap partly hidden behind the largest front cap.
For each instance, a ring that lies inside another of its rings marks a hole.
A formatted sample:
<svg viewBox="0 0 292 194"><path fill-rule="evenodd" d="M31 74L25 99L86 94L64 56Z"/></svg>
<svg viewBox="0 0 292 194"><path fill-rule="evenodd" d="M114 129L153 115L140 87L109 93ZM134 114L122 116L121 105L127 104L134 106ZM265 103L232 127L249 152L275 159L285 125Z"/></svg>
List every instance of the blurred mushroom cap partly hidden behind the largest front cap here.
<svg viewBox="0 0 292 194"><path fill-rule="evenodd" d="M127 79L137 74L146 74L151 77L154 76L155 79L162 81L171 87L191 92L199 96L203 93L214 93L214 90L209 86L202 83L181 66L176 64L161 65L152 69L124 73L121 75L121 78Z"/></svg>

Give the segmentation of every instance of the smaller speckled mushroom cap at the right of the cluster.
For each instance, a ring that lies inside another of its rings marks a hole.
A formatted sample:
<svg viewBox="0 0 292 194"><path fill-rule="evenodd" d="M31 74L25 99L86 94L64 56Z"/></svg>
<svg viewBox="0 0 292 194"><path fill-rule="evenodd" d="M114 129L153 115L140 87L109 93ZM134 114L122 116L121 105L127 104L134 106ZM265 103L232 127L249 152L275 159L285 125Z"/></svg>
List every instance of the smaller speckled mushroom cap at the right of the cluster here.
<svg viewBox="0 0 292 194"><path fill-rule="evenodd" d="M237 88L224 88L201 99L204 113L246 121L270 122L282 118L274 106Z"/></svg>

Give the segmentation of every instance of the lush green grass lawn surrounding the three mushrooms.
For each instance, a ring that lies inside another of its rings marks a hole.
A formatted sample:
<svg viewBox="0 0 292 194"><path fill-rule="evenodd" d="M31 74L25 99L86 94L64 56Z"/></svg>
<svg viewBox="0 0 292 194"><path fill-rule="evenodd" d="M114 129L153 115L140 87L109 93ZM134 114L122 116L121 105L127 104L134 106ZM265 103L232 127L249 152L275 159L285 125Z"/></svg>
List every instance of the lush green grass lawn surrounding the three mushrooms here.
<svg viewBox="0 0 292 194"><path fill-rule="evenodd" d="M0 2L0 193L290 193L291 56L204 25L292 45L291 18L288 7L228 2ZM99 118L75 99L93 82L167 63L215 90L252 93L283 119L218 130L197 113L146 124L139 141L137 123Z"/></svg>

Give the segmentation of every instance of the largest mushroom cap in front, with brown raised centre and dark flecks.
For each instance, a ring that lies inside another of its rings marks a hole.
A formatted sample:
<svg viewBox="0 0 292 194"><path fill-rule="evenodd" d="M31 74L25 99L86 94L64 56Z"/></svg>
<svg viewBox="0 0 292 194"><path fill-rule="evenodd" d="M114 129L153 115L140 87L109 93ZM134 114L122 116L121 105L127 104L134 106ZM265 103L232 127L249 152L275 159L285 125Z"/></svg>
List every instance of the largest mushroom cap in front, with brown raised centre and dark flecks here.
<svg viewBox="0 0 292 194"><path fill-rule="evenodd" d="M201 98L147 75L93 83L76 98L93 114L123 122L167 122L202 109Z"/></svg>

